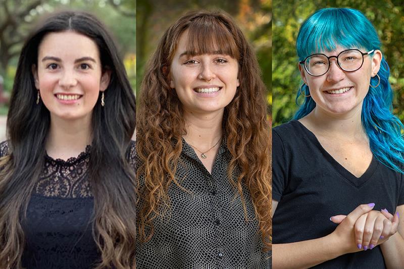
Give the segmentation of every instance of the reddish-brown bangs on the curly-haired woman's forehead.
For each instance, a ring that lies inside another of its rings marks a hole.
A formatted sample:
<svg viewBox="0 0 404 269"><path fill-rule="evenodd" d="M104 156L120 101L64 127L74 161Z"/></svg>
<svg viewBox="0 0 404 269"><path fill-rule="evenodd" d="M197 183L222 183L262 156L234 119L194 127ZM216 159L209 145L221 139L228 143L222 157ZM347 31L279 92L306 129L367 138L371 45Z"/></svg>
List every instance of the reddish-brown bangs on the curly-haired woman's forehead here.
<svg viewBox="0 0 404 269"><path fill-rule="evenodd" d="M240 53L234 36L226 25L214 16L199 17L189 23L187 54L223 54L239 60Z"/></svg>

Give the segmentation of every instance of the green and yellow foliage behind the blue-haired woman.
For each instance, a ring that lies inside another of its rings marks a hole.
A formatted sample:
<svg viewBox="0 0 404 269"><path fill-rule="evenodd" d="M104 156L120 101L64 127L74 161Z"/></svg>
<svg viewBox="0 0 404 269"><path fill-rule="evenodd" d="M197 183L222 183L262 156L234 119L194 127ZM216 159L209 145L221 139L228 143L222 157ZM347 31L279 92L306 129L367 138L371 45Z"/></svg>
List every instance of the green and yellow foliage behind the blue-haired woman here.
<svg viewBox="0 0 404 269"><path fill-rule="evenodd" d="M302 80L297 69L295 42L300 24L316 10L331 7L360 10L375 26L382 42L383 57L390 66L393 112L401 121L404 120L403 1L276 0L273 4L273 126L289 121L297 110L295 98Z"/></svg>

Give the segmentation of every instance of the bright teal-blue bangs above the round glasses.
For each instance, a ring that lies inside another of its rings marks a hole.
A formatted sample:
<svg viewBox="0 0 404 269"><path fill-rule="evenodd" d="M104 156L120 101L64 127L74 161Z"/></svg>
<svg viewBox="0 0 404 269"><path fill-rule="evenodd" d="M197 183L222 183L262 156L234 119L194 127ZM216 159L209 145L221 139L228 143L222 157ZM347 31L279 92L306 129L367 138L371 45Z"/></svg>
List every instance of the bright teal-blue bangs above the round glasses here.
<svg viewBox="0 0 404 269"><path fill-rule="evenodd" d="M375 38L376 37L376 38ZM380 41L365 16L351 9L323 9L301 26L297 36L297 55L302 61L309 55L343 48L378 49Z"/></svg>

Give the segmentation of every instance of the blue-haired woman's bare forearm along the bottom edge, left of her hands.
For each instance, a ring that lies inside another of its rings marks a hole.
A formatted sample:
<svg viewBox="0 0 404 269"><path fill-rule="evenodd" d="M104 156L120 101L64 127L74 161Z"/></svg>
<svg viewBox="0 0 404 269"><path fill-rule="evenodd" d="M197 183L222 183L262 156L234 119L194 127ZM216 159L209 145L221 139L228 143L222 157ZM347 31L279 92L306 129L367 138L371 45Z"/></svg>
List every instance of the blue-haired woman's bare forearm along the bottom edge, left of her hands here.
<svg viewBox="0 0 404 269"><path fill-rule="evenodd" d="M273 269L308 268L344 254L331 235L272 245Z"/></svg>

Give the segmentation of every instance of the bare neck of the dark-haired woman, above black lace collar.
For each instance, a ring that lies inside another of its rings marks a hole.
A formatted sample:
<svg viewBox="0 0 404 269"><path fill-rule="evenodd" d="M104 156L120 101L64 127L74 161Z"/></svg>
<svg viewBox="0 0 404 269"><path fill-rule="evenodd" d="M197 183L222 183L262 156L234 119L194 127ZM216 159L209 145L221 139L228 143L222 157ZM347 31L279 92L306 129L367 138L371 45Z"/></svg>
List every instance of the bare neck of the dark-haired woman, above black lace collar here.
<svg viewBox="0 0 404 269"><path fill-rule="evenodd" d="M68 159L83 152L91 143L91 116L67 121L52 117L46 139L46 152L53 158Z"/></svg>

